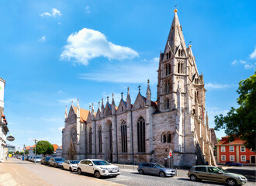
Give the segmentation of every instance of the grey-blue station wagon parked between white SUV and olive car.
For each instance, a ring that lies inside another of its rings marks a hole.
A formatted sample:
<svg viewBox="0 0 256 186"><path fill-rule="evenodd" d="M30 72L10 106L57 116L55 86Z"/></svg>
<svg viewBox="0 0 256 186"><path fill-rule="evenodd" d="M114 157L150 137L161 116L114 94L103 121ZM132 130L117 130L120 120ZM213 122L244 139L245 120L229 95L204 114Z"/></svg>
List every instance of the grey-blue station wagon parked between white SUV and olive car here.
<svg viewBox="0 0 256 186"><path fill-rule="evenodd" d="M137 170L140 174L154 174L161 177L173 177L176 174L175 169L166 168L161 164L154 163L140 164Z"/></svg>

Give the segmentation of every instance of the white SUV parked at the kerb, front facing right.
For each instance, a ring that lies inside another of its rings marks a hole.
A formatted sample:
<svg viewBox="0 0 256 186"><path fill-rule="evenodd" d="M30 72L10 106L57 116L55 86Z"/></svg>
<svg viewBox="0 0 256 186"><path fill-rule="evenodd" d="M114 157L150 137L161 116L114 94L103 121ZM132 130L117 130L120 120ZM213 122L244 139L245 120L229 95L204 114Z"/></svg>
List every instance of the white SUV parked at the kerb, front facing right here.
<svg viewBox="0 0 256 186"><path fill-rule="evenodd" d="M109 164L106 160L87 159L81 160L78 164L78 174L94 174L95 177L112 176L120 174L119 167Z"/></svg>

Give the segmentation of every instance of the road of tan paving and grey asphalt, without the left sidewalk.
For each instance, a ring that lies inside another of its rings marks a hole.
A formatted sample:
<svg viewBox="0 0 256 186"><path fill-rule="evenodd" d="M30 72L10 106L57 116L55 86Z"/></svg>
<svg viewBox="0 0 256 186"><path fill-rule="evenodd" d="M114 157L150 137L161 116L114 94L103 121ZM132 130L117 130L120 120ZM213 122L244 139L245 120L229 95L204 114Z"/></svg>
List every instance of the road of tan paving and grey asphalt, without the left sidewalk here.
<svg viewBox="0 0 256 186"><path fill-rule="evenodd" d="M28 161L13 160L14 164L19 164L19 166L29 171L30 174L35 174L42 181L47 182L50 185L143 185L143 186L159 186L159 185L188 185L188 186L200 186L200 185L224 185L221 183L216 183L212 181L190 181L189 177L186 176L187 170L178 170L177 177L158 177L152 175L141 175L137 173L137 170L133 171L133 168L121 168L121 174L118 177L103 177L101 179L96 179L95 177L84 174L79 175L70 171L63 171L60 168L48 167L41 164L33 164ZM255 167L248 170L246 167L229 167L229 171L239 172L242 170L244 173L255 174ZM254 176L255 178L255 176ZM0 184L1 185L1 184ZM248 186L256 185L255 181L252 179L248 182Z"/></svg>

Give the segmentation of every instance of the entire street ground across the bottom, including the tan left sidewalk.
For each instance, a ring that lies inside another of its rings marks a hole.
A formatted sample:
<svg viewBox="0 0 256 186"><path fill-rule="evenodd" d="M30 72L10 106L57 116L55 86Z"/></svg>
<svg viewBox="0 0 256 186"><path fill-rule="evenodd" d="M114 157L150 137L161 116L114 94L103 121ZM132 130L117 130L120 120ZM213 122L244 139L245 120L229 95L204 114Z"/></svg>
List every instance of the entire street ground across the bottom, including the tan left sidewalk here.
<svg viewBox="0 0 256 186"><path fill-rule="evenodd" d="M124 169L119 166L121 174L118 177L95 177L76 172L63 171L60 168L48 167L41 164L33 164L29 161L9 159L0 164L0 185L224 185L212 181L192 182L186 176L187 170L178 170L177 177L158 177L152 175L141 175L137 169L133 171L132 166ZM229 171L247 171L251 175L247 185L255 185L255 167L229 167ZM247 175L246 175L247 176Z"/></svg>

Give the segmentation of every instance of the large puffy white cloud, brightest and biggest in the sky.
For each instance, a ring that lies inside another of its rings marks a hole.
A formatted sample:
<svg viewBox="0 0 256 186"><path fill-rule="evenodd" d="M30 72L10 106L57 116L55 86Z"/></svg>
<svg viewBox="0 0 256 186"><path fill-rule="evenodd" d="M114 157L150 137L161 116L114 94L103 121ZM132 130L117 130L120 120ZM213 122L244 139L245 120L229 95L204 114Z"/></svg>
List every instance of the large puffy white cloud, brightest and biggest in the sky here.
<svg viewBox="0 0 256 186"><path fill-rule="evenodd" d="M138 57L139 54L129 48L111 43L103 33L93 29L81 29L67 38L67 45L61 53L61 60L74 59L75 63L88 64L95 57L107 57L109 60L125 60Z"/></svg>

